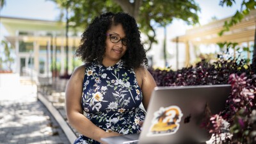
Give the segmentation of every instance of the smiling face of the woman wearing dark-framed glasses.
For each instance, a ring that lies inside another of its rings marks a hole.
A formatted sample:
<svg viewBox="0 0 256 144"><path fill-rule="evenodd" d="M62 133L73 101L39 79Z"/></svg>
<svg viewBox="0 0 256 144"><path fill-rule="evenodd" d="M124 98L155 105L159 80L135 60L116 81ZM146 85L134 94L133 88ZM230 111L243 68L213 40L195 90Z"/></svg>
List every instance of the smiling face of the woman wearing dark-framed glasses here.
<svg viewBox="0 0 256 144"><path fill-rule="evenodd" d="M122 24L111 25L111 28L107 31L106 53L102 64L104 64L104 66L115 65L116 62L120 61L126 50L126 38Z"/></svg>

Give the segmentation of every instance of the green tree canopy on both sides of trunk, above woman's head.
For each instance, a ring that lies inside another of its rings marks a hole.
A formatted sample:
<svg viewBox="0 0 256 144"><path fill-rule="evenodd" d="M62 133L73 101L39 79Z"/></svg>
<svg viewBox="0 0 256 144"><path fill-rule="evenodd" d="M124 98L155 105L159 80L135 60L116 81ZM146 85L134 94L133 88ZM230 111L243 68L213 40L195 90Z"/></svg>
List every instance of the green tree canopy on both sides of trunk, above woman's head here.
<svg viewBox="0 0 256 144"><path fill-rule="evenodd" d="M67 7L67 1L51 0L60 5L60 8ZM83 29L92 22L93 18L106 11L124 11L125 6L135 6L136 1L140 1L139 13L136 19L141 32L147 34L150 44L157 42L155 39L155 29L172 23L174 18L184 20L187 24L198 23L198 11L200 8L193 0L122 0L126 5L118 5L114 0L94 1L94 0L69 0L68 9L70 10L70 22L74 22L74 27ZM134 7L132 7L134 8ZM135 10L135 8L134 8ZM130 13L132 15L132 13ZM149 47L149 48L150 48ZM148 49L149 49L148 48Z"/></svg>

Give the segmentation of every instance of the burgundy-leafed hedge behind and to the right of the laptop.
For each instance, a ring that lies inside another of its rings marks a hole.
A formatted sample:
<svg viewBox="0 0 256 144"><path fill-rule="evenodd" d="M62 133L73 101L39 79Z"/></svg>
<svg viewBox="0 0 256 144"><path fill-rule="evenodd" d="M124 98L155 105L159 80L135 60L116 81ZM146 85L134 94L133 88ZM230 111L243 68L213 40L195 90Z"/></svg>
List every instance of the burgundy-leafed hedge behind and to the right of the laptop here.
<svg viewBox="0 0 256 144"><path fill-rule="evenodd" d="M227 106L218 115L209 115L205 128L223 143L256 143L256 75L243 59L202 60L195 66L178 69L148 69L158 86L232 85ZM227 125L228 124L228 125ZM230 134L223 129L228 129Z"/></svg>

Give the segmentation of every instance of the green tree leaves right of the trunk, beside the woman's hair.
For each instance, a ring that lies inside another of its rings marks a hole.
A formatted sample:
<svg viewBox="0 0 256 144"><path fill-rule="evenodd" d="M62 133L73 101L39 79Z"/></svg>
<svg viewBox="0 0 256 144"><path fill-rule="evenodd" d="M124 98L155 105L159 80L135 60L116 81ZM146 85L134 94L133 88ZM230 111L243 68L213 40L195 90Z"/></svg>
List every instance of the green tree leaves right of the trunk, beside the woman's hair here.
<svg viewBox="0 0 256 144"><path fill-rule="evenodd" d="M152 43L157 42L155 29L171 24L175 18L184 20L189 25L197 24L198 11L200 11L200 8L195 1L143 1L138 23L141 32L147 34L148 41L145 41L145 43L152 45Z"/></svg>

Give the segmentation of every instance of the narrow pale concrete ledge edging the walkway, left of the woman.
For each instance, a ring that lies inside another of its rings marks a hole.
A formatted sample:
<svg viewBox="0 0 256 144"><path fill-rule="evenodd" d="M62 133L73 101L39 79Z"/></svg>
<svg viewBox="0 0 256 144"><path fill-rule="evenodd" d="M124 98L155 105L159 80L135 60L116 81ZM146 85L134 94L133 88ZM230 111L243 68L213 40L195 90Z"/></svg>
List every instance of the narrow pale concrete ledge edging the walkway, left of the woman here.
<svg viewBox="0 0 256 144"><path fill-rule="evenodd" d="M40 92L38 92L38 99L42 101L42 103L49 110L49 112L51 112L54 119L56 119L56 121L60 124L61 129L63 129L70 143L74 143L74 141L77 139L77 136L76 134L74 134L72 129L68 126L67 122L63 119L63 117L60 115L58 110L56 110L56 108L52 105L52 103L49 102L44 96L42 96Z"/></svg>

